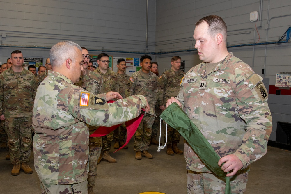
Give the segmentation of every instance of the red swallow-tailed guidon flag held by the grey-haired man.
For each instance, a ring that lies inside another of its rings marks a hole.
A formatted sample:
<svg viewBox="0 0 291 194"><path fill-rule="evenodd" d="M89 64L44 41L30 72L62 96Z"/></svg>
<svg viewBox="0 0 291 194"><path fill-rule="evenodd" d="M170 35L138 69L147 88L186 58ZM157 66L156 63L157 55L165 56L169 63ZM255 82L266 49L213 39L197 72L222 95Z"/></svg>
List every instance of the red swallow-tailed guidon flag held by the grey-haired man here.
<svg viewBox="0 0 291 194"><path fill-rule="evenodd" d="M112 103L112 102L114 102L114 101L113 100L110 100L107 103ZM136 117L136 118L134 118L132 120L129 120L129 121L125 122L127 137L126 137L126 141L125 141L124 145L121 146L118 150L122 149L124 146L127 145L127 143L129 142L129 140L134 135L137 127L139 127L139 124L141 123L141 120L142 119L143 119L143 114L140 114L138 117ZM111 131L113 131L114 129L118 128L120 125L121 124L114 125L114 126L111 126L111 127L99 127L93 134L90 135L90 137L101 137L101 136L105 136L105 135L109 134ZM118 150L116 150L115 152L117 152Z"/></svg>

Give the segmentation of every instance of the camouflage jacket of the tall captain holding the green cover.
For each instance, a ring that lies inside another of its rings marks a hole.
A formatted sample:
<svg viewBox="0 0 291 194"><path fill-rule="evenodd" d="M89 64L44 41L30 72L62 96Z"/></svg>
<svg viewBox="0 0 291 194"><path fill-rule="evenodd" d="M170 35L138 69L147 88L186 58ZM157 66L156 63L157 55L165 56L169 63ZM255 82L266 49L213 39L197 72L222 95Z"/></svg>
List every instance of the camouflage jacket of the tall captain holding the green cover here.
<svg viewBox="0 0 291 194"><path fill-rule="evenodd" d="M220 157L235 154L247 168L265 155L272 131L268 94L262 77L228 54L206 73L205 63L189 70L177 99ZM210 172L184 143L187 169Z"/></svg>

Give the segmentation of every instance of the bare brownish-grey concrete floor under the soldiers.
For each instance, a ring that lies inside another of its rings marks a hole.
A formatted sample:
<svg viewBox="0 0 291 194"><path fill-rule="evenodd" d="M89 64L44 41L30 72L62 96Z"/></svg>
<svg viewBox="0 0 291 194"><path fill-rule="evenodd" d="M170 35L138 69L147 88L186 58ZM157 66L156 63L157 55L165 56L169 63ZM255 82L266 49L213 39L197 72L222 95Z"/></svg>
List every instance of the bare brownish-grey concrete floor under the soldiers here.
<svg viewBox="0 0 291 194"><path fill-rule="evenodd" d="M182 140L182 139L181 139ZM181 141L183 142L183 141ZM187 193L186 162L184 155L169 156L165 149L157 152L157 146L150 146L149 152L153 159L134 159L133 139L129 149L116 153L111 149L111 156L116 164L102 161L97 165L95 194L138 194L142 192L162 192L166 194ZM182 143L178 144L183 149ZM38 176L33 168L33 174L26 175L20 171L18 176L10 174L12 165L5 160L6 150L0 150L0 193L39 194ZM33 167L33 156L29 165ZM267 154L251 165L249 181L245 194L283 194L291 193L291 152L268 147Z"/></svg>

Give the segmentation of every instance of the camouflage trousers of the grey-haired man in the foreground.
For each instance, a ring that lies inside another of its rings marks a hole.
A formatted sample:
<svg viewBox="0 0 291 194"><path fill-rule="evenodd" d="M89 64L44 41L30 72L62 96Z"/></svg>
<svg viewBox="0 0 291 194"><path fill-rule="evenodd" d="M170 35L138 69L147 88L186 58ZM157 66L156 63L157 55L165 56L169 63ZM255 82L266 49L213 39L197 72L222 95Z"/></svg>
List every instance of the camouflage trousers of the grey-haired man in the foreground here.
<svg viewBox="0 0 291 194"><path fill-rule="evenodd" d="M88 194L87 181L68 185L46 185L40 182L41 194Z"/></svg>

